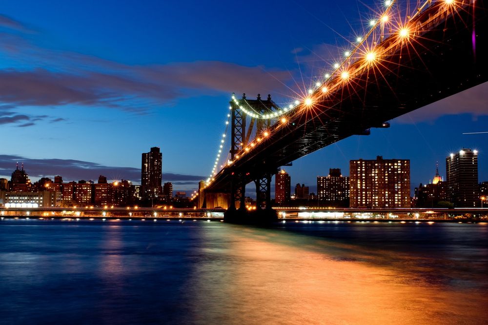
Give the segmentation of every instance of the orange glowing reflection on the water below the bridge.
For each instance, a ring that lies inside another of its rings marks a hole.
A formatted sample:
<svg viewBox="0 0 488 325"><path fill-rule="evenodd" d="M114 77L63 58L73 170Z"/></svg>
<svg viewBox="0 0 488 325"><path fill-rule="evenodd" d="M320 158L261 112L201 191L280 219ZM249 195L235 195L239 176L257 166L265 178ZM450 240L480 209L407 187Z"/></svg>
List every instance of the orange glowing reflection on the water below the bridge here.
<svg viewBox="0 0 488 325"><path fill-rule="evenodd" d="M226 225L207 236L209 243L231 244L202 248L207 262L199 264L192 284L196 322L459 324L488 319L483 291L419 280L422 267L402 269L415 260L407 254L392 266L379 262L395 253L371 259L361 247L286 232Z"/></svg>

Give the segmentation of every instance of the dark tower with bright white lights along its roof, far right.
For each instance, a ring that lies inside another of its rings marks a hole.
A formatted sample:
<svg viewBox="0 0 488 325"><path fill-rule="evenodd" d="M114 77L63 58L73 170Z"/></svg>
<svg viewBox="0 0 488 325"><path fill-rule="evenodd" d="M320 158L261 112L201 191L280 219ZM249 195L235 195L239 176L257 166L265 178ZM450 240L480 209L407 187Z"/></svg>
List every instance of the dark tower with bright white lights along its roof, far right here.
<svg viewBox="0 0 488 325"><path fill-rule="evenodd" d="M446 157L447 192L456 207L479 205L478 151L461 149Z"/></svg>

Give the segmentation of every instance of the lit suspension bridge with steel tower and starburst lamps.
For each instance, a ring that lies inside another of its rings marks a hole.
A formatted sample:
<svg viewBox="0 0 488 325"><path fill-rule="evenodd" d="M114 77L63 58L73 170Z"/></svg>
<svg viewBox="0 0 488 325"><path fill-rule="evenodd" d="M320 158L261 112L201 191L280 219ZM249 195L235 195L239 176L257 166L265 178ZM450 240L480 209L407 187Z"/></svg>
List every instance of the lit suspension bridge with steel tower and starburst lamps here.
<svg viewBox="0 0 488 325"><path fill-rule="evenodd" d="M280 107L269 95L232 96L230 139L225 132L210 177L195 194L199 207L242 218L245 186L254 182L256 216L273 216L271 177L280 166L488 81L484 0L428 0L412 13L386 0L381 11L289 104Z"/></svg>

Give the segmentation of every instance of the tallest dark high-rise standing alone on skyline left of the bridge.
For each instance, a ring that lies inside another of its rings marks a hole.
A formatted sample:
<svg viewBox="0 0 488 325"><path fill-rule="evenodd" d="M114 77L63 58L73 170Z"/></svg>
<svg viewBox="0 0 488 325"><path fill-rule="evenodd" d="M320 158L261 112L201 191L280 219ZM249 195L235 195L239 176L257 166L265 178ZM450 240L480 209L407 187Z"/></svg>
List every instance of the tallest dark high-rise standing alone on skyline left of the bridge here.
<svg viewBox="0 0 488 325"><path fill-rule="evenodd" d="M163 174L163 154L159 147L142 154L141 189L144 198L156 198L163 191L161 186Z"/></svg>

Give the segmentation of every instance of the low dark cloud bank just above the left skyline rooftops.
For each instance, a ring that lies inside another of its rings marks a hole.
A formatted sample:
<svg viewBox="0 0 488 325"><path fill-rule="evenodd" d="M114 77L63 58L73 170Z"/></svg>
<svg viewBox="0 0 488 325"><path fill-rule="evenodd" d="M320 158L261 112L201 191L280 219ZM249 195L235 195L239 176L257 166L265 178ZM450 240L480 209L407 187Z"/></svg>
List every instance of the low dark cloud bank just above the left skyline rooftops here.
<svg viewBox="0 0 488 325"><path fill-rule="evenodd" d="M0 175L11 175L16 163L24 163L24 169L30 177L54 177L61 175L64 182L78 180L98 180L104 175L110 180L125 179L139 183L141 169L133 167L105 166L99 163L71 159L29 159L16 155L0 155ZM183 182L197 184L203 176L164 173L164 182ZM191 182L193 181L193 182Z"/></svg>

